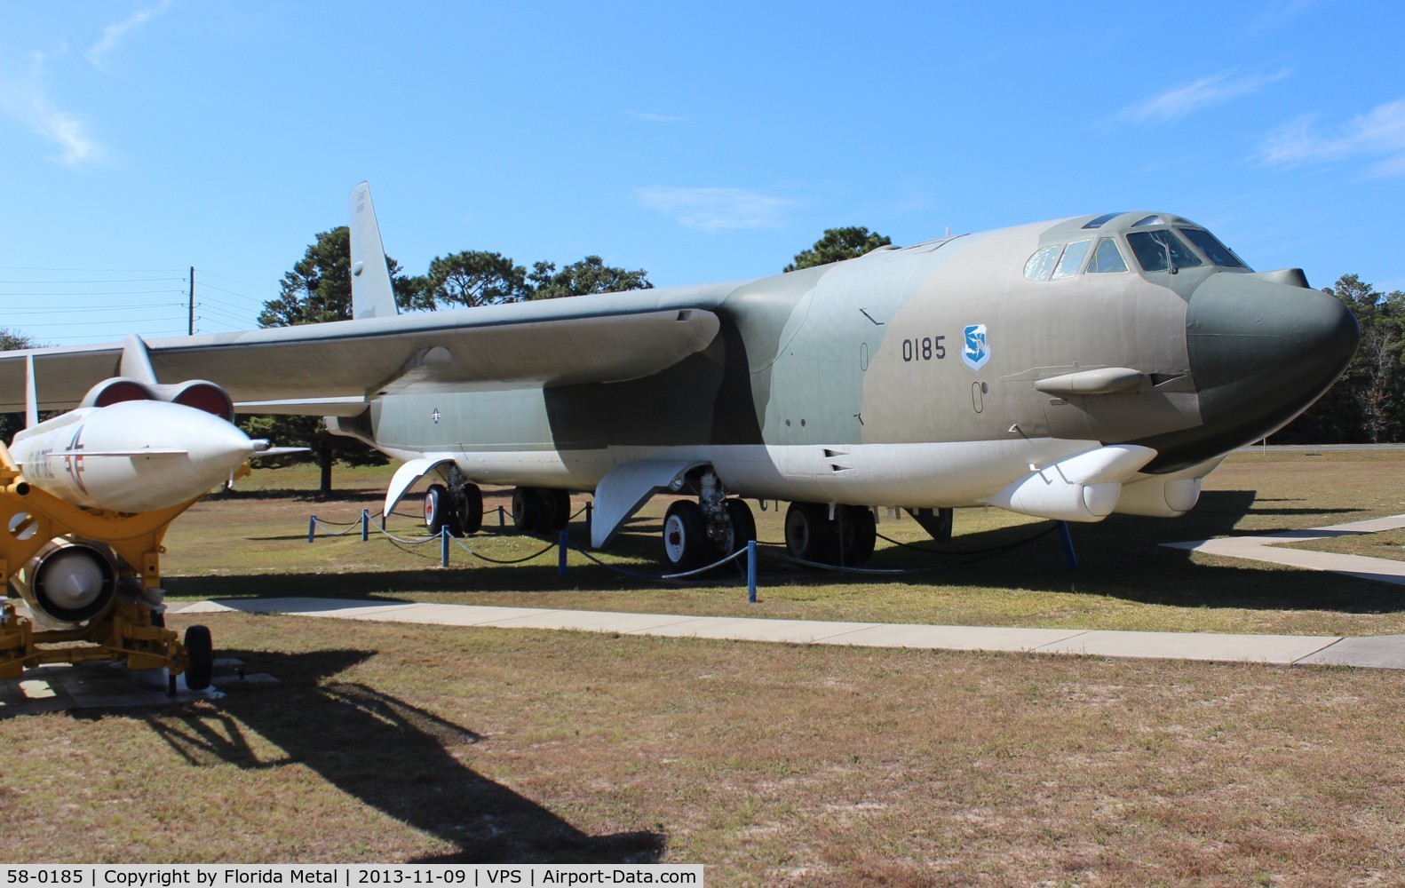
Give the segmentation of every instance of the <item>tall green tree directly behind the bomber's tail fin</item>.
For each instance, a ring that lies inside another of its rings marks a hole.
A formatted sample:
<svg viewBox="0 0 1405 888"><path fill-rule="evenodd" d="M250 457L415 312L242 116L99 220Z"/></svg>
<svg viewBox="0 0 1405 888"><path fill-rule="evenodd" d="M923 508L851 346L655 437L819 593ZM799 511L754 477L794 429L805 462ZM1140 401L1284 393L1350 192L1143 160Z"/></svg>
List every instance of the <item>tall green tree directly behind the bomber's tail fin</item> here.
<svg viewBox="0 0 1405 888"><path fill-rule="evenodd" d="M400 306L414 302L424 288L424 278L406 278L389 256L391 285ZM318 235L303 257L282 275L281 295L264 302L259 323L285 327L303 323L348 320L351 318L351 237L343 225ZM278 447L308 447L322 469L319 495L332 495L332 466L385 465L379 451L355 438L336 436L316 416L249 416L240 427L254 438L268 438ZM282 465L281 462L278 465Z"/></svg>

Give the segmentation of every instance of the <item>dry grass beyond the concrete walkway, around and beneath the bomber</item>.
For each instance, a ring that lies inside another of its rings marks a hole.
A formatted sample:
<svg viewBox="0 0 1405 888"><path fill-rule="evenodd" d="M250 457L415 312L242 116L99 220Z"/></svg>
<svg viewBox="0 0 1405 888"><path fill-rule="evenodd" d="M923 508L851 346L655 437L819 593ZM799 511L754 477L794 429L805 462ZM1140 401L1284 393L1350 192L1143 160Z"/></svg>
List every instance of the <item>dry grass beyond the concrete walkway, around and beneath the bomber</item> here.
<svg viewBox="0 0 1405 888"><path fill-rule="evenodd" d="M298 469L263 472L256 485L313 483ZM961 565L880 544L873 566L946 562L937 573L901 577L836 577L766 562L760 604L747 604L739 576L690 586L624 579L572 555L565 582L554 556L496 568L458 549L454 568L438 568L438 547L399 551L358 534L306 542L311 511L351 521L379 507L386 471L348 474L353 493L333 503L277 496L211 500L173 528L167 570L177 597L312 594L405 599L459 604L565 607L705 615L808 620L1028 625L1089 629L1384 635L1405 632L1398 590L1357 579L1191 555L1161 542L1273 533L1405 511L1405 451L1328 455L1270 451L1236 454L1210 476L1200 506L1175 520L1114 516L1073 525L1080 565L1071 572L1054 535L998 558ZM489 506L506 502L489 492ZM632 520L603 556L658 572L658 527L666 499ZM577 497L579 504L579 497ZM406 503L402 511L413 514ZM781 538L780 514L757 513L760 537ZM490 516L489 527L496 525ZM1002 545L1047 530L1047 521L993 510L957 513L951 549ZM413 517L392 530L419 533ZM884 521L885 535L920 542L912 520ZM584 527L573 525L577 541ZM486 534L472 545L493 558L542 548L535 538ZM257 576L257 579L250 579Z"/></svg>

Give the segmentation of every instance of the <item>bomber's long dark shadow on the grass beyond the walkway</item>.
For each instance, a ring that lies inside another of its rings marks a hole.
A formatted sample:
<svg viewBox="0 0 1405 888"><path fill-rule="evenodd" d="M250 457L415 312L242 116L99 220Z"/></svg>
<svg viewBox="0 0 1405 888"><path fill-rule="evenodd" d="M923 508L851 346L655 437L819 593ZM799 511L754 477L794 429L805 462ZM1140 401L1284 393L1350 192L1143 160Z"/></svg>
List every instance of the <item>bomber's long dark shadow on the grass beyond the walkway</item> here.
<svg viewBox="0 0 1405 888"><path fill-rule="evenodd" d="M1295 503L1302 503L1297 506ZM899 582L917 586L979 586L1009 590L1076 592L1113 599L1175 607L1239 607L1250 610L1328 610L1338 613L1397 613L1405 610L1398 589L1368 580L1318 570L1269 569L1252 562L1205 565L1191 561L1186 549L1162 547L1162 542L1208 540L1246 534L1272 534L1290 527L1253 531L1239 530L1248 514L1290 518L1324 516L1319 524L1350 520L1356 509L1312 507L1308 500L1259 500L1253 490L1208 490L1200 504L1182 518L1139 518L1113 516L1100 524L1072 524L1071 534L1078 554L1078 569L1071 570L1062 542L1051 523L961 534L950 545L924 542L880 551L870 568L922 568L910 575L861 575L819 572L764 558L760 566L762 597L766 586L805 585L843 586L854 583ZM1347 517L1338 517L1347 516ZM960 534L960 513L957 531ZM1286 523L1287 524L1287 523ZM1301 521L1298 521L1301 524ZM882 534L889 521L878 525ZM656 527L638 527L639 533L621 534L611 548L615 554L656 555ZM577 544L583 525L573 525ZM549 541L544 541L544 545ZM594 565L572 566L565 579L556 575L555 552L507 569L441 570L438 551L419 552L424 570L379 570L327 573L291 573L260 576L171 577L173 594L198 594L212 599L254 596L299 596L379 600L386 590L416 593L510 592L520 594L582 592L628 592L656 589L648 580L622 576ZM455 562L461 562L455 552ZM930 568L930 570L926 570ZM659 575L658 563L634 568ZM735 566L722 568L700 580L705 586L742 585L745 577ZM745 594L740 590L739 594ZM391 600L391 599L384 599ZM459 600L459 603L465 603ZM658 607L652 604L652 607Z"/></svg>

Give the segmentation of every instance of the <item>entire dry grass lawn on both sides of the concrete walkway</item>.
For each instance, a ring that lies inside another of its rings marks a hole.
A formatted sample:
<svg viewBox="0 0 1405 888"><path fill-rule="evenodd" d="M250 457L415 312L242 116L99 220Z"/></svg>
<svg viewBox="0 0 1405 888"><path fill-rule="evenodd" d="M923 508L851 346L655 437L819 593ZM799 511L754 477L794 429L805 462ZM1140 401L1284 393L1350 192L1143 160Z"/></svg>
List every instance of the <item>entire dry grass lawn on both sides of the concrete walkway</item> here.
<svg viewBox="0 0 1405 888"><path fill-rule="evenodd" d="M385 472L346 472L351 492L318 503L299 492L309 474L282 469L177 521L166 568L184 599L1367 635L1405 631L1397 587L1156 544L1405 511L1402 469L1392 452L1235 455L1186 518L1075 527L1076 572L1054 537L903 580L767 565L754 606L731 580L659 587L580 556L562 583L554 559L459 552L441 569L437 547L309 545L309 511L353 520ZM659 514L610 558L652 566ZM776 513L759 517L777 540ZM957 520L960 551L1047 527ZM880 531L920 535L910 520ZM929 558L885 548L874 563ZM223 656L280 683L0 715L0 860L665 860L708 864L715 885L1405 882L1392 672L202 621Z"/></svg>

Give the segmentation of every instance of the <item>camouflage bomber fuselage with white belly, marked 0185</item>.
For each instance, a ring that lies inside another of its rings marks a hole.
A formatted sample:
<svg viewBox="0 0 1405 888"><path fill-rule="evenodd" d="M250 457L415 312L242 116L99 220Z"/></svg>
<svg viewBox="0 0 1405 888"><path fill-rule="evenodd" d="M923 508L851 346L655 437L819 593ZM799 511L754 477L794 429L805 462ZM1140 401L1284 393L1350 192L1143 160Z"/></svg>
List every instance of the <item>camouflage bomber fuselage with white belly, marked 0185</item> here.
<svg viewBox="0 0 1405 888"><path fill-rule="evenodd" d="M1357 332L1291 274L1211 261L1141 271L1125 235L1145 216L944 237L742 284L577 296L590 313L704 309L721 329L643 378L440 386L374 399L340 424L400 459L452 455L485 483L587 490L618 465L683 459L711 464L742 496L910 507L1006 504L1012 479L1135 444L1155 457L1124 479L1121 510L1176 514L1159 488L1139 506L1135 485L1198 479L1286 424L1336 379ZM1040 247L1092 237L1114 239L1130 270L1026 275ZM1116 385L1089 372L1103 368L1121 374Z"/></svg>

